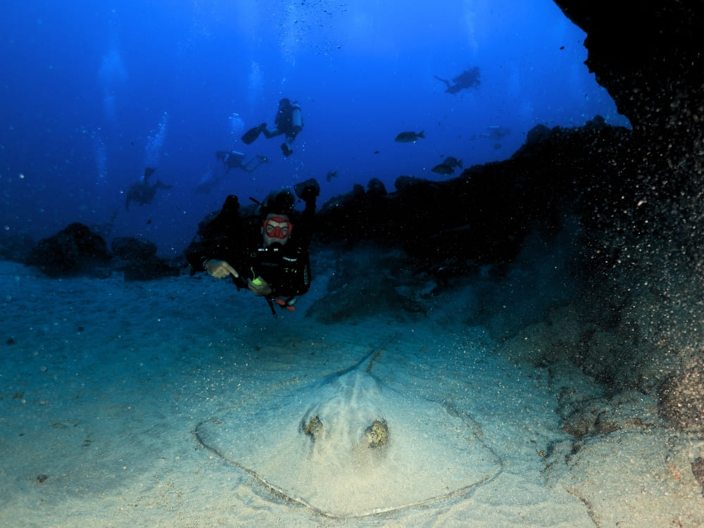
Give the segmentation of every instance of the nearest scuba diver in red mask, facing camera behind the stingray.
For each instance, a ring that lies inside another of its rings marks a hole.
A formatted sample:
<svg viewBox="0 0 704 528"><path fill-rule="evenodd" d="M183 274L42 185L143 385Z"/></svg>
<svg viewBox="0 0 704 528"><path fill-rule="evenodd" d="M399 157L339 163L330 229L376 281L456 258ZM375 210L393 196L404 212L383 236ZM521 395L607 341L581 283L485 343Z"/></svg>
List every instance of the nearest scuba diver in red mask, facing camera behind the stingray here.
<svg viewBox="0 0 704 528"><path fill-rule="evenodd" d="M294 311L296 296L310 288L308 248L320 185L310 179L294 191L306 202L301 215L294 211L289 189L270 192L259 214L249 218L240 217L237 196L227 196L220 213L199 228L201 240L185 252L191 275L207 271L218 279L231 277L238 290L264 297L274 317L275 306Z"/></svg>

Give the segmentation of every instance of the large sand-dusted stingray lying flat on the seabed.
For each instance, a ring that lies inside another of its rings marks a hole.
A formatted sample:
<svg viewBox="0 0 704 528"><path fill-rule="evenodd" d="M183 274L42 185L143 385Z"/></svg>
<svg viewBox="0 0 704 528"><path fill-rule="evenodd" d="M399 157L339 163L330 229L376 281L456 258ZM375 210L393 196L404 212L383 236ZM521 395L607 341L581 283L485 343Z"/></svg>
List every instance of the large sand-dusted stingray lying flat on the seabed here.
<svg viewBox="0 0 704 528"><path fill-rule="evenodd" d="M496 477L501 460L469 415L371 374L382 347L308 386L223 410L196 438L273 498L333 518L429 505Z"/></svg>

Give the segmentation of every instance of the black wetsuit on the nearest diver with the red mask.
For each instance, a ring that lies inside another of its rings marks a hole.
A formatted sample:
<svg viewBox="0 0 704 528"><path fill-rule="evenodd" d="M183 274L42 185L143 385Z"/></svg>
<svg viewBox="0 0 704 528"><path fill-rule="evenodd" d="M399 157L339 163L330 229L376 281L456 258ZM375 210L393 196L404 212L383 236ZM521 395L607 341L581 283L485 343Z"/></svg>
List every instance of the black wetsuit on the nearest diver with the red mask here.
<svg viewBox="0 0 704 528"><path fill-rule="evenodd" d="M238 288L247 286L247 279L261 277L269 284L269 297L291 298L305 294L310 288L310 256L308 248L315 215L315 198L306 201L300 218L291 218L291 236L283 246L263 247L261 218L240 218L236 196L228 196L220 214L199 230L201 241L191 244L186 257L193 272L205 270L210 258L225 260L239 273Z"/></svg>

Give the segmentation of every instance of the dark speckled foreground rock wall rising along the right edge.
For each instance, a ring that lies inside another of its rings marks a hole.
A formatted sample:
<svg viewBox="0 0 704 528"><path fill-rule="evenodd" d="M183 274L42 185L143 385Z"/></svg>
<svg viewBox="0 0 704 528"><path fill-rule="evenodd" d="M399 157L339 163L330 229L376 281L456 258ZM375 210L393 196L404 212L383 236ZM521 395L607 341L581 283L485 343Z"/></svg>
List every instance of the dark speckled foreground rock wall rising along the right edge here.
<svg viewBox="0 0 704 528"><path fill-rule="evenodd" d="M631 360L617 350L594 359L603 359L602 370L627 372L615 379L658 387L670 425L700 430L704 4L555 4L587 33L586 65L633 125L633 148L610 170L620 193L589 223L591 280L612 287L599 300Z"/></svg>

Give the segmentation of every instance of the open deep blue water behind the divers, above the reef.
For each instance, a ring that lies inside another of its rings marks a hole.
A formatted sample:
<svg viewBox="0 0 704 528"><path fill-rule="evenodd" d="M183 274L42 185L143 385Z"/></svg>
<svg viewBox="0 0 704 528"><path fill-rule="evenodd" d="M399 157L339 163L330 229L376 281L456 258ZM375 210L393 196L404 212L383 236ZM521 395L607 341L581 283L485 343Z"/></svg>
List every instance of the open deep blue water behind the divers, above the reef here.
<svg viewBox="0 0 704 528"><path fill-rule="evenodd" d="M628 125L583 64L584 32L549 0L10 0L0 35L0 225L37 239L79 221L175 255L227 194L308 177L322 201L372 177L393 190L399 175L445 179L430 170L444 156L508 158L539 123ZM477 88L434 79L474 66ZM239 140L282 97L305 124L289 158L281 138ZM482 138L492 126L511 133ZM269 163L194 193L223 176L215 151L228 149ZM146 166L173 187L127 211Z"/></svg>

